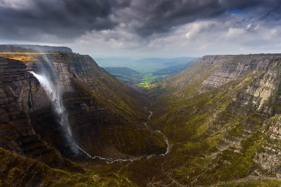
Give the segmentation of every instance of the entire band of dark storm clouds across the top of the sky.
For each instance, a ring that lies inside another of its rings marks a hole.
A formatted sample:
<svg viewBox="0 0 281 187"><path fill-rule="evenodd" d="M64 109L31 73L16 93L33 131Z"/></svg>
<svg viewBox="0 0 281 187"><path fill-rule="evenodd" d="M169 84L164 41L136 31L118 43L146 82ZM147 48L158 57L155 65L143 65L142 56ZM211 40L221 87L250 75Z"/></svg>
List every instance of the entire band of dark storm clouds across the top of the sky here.
<svg viewBox="0 0 281 187"><path fill-rule="evenodd" d="M147 37L198 19L259 6L268 10L261 19L280 19L280 8L276 9L280 5L280 0L0 0L0 37L74 40L87 31L112 30L120 23Z"/></svg>

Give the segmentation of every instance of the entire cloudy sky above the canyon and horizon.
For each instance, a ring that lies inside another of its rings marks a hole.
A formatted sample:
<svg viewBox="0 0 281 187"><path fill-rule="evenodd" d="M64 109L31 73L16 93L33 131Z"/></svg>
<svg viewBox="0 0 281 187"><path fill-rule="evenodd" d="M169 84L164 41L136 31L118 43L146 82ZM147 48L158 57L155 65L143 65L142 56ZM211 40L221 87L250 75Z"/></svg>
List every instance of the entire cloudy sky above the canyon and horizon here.
<svg viewBox="0 0 281 187"><path fill-rule="evenodd" d="M281 0L0 0L0 44L97 57L281 53Z"/></svg>

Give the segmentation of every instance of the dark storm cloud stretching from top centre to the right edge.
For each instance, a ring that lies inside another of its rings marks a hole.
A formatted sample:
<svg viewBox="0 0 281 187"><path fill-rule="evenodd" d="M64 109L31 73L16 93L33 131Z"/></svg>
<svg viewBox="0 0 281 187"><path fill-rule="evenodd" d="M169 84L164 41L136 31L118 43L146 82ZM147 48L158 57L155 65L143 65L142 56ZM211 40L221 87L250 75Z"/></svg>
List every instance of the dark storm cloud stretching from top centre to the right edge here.
<svg viewBox="0 0 281 187"><path fill-rule="evenodd" d="M267 0L165 0L145 1L140 11L140 25L135 30L141 36L149 36L153 33L167 32L171 27L190 23L198 19L209 19L236 11L251 11L258 6L275 7L280 1ZM155 8L145 8L155 7ZM133 7L134 8L134 7ZM280 14L280 13L279 13Z"/></svg>

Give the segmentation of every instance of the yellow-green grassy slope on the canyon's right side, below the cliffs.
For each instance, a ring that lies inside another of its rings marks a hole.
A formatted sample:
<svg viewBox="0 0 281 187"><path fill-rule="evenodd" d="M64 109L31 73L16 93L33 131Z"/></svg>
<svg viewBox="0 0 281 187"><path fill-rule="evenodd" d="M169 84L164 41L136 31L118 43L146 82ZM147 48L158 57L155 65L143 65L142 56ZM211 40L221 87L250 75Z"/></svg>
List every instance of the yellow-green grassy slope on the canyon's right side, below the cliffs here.
<svg viewBox="0 0 281 187"><path fill-rule="evenodd" d="M158 110L164 110L161 113L162 115L153 116L151 123L153 127L162 125L165 135L171 143L174 143L170 156L172 158L167 160L174 163L181 162L181 165L186 164L184 167L177 169L177 176L184 176L186 172L190 171L189 164L193 162L191 156L194 156L195 152L195 155L198 155L200 159L194 163L196 167L198 166L198 169L194 171L198 171L197 175L200 174L201 166L208 163L208 159L205 159L204 156L217 154L216 152L223 147L221 145L227 147L227 138L230 142L235 142L235 136L237 136L239 142L239 138L243 138L241 135L250 135L245 129L247 126L251 126L251 130L255 131L262 127L265 120L254 109L251 110L249 105L241 105L237 100L234 100L234 98L239 98L240 95L245 97L244 95L248 94L246 88L257 77L261 76L262 72L246 72L219 88L211 88L204 93L200 93L201 89L205 87L203 80L212 75L213 71L216 71L214 65L205 67L204 64L196 64L179 76L163 79L158 87L153 88L155 92L163 93L162 96L157 98L160 104L155 106ZM162 90L165 90L166 93ZM271 100L273 100L273 97ZM270 99L268 102L271 102ZM238 106L239 111L242 111L240 113L235 110ZM278 109L277 106L272 106ZM217 129L206 131L213 126ZM207 133L210 133L210 131L215 132L211 138L208 138L210 134ZM229 134L234 137L229 136ZM234 178L245 177L254 164L253 158L259 147L260 138L260 134L252 134L252 136L241 141L241 150L238 150L239 146L224 150L217 158L218 160L215 161L214 168L207 175L210 174L211 176L212 172L214 173L219 169L216 177L220 176L220 180L227 181L232 176ZM184 143L186 141L187 143ZM205 145L200 145L204 141ZM200 147L202 147L201 151L199 151ZM181 180L181 178L179 179Z"/></svg>

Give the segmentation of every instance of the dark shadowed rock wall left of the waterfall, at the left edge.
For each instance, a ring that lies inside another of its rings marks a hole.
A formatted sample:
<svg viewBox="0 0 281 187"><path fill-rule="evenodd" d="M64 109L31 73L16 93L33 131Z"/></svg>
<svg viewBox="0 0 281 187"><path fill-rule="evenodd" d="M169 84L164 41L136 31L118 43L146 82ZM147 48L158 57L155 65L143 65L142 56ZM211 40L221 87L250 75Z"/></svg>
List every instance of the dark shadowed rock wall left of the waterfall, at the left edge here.
<svg viewBox="0 0 281 187"><path fill-rule="evenodd" d="M0 146L23 156L40 158L56 169L85 172L81 166L73 167L73 162L62 158L59 151L35 133L21 101L21 95L29 92L28 86L35 78L26 71L23 62L0 57L0 80Z"/></svg>

